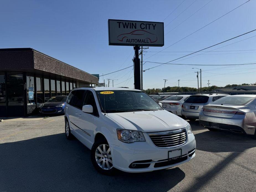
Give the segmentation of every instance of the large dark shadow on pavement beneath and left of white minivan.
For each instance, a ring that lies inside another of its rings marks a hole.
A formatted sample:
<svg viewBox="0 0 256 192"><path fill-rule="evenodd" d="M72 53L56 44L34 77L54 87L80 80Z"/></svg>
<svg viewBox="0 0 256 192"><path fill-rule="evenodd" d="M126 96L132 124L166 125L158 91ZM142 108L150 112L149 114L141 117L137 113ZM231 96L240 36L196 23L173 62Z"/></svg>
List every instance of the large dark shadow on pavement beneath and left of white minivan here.
<svg viewBox="0 0 256 192"><path fill-rule="evenodd" d="M168 191L185 178L179 168L99 174L90 150L65 134L0 144L0 191Z"/></svg>

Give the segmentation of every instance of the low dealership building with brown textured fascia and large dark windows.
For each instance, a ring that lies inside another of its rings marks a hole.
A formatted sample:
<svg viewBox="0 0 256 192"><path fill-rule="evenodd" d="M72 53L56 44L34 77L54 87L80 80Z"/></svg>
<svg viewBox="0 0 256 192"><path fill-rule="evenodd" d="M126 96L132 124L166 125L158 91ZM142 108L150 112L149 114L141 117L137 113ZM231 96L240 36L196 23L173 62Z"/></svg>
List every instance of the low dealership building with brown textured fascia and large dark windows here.
<svg viewBox="0 0 256 192"><path fill-rule="evenodd" d="M98 78L32 48L0 49L0 117L30 116L41 103Z"/></svg>

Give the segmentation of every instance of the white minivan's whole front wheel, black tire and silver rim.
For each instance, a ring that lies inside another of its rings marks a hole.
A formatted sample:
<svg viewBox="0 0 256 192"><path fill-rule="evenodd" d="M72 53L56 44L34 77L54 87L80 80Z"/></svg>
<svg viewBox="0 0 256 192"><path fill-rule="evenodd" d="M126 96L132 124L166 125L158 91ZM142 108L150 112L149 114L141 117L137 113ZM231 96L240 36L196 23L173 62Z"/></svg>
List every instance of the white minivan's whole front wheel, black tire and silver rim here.
<svg viewBox="0 0 256 192"><path fill-rule="evenodd" d="M93 144L91 161L94 168L104 175L113 175L115 172L112 162L112 154L107 141L100 140Z"/></svg>

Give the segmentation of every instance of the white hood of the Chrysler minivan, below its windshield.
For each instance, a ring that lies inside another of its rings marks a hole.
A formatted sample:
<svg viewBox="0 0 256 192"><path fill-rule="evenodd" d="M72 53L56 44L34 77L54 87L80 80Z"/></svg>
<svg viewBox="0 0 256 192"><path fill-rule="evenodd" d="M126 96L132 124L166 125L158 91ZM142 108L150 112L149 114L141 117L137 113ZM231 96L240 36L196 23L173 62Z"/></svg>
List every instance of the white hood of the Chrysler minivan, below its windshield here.
<svg viewBox="0 0 256 192"><path fill-rule="evenodd" d="M108 113L123 128L142 132L170 131L185 128L187 121L166 110Z"/></svg>

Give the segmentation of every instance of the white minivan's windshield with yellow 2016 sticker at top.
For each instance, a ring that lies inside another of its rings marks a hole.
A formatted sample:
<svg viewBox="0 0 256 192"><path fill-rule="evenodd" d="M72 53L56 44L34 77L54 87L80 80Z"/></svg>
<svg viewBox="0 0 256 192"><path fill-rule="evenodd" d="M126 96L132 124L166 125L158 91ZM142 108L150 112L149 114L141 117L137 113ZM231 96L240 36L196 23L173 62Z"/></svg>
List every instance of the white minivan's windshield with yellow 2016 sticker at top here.
<svg viewBox="0 0 256 192"><path fill-rule="evenodd" d="M148 94L133 90L96 91L106 113L163 110Z"/></svg>

